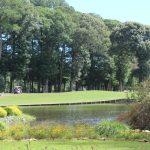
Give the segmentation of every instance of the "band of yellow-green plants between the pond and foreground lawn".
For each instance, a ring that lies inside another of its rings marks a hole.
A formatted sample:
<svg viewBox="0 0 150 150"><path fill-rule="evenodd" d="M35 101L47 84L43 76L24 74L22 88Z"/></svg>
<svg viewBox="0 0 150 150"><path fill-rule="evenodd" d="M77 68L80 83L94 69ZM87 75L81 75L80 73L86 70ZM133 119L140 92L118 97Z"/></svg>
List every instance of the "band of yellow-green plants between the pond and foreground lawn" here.
<svg viewBox="0 0 150 150"><path fill-rule="evenodd" d="M0 139L99 139L100 137L108 137L126 140L148 140L150 141L150 133L140 130L130 130L128 126L118 122L102 122L103 125L89 126L86 124L76 124L74 126L63 126L60 124L41 124L38 126L29 126L24 124L16 124L6 128L2 125L0 130ZM108 125L109 124L109 125ZM113 125L111 125L113 124Z"/></svg>

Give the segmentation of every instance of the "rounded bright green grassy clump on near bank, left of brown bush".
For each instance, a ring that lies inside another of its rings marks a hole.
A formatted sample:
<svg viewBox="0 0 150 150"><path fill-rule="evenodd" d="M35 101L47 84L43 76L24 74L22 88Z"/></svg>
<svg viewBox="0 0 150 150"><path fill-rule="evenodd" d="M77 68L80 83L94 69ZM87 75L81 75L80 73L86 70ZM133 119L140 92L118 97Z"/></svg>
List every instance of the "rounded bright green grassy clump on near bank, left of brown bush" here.
<svg viewBox="0 0 150 150"><path fill-rule="evenodd" d="M115 121L103 121L96 127L96 131L101 136L115 137L122 131L129 130L129 127L123 123Z"/></svg>

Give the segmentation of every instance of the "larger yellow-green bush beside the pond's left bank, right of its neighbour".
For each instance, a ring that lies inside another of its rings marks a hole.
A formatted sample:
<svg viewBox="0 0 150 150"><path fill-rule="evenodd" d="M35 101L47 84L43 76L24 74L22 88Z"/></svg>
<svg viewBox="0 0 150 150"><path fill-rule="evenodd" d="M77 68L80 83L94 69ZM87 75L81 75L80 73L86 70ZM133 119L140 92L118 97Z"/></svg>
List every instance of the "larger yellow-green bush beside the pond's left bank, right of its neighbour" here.
<svg viewBox="0 0 150 150"><path fill-rule="evenodd" d="M5 108L9 116L20 116L22 111L17 106L8 106Z"/></svg>

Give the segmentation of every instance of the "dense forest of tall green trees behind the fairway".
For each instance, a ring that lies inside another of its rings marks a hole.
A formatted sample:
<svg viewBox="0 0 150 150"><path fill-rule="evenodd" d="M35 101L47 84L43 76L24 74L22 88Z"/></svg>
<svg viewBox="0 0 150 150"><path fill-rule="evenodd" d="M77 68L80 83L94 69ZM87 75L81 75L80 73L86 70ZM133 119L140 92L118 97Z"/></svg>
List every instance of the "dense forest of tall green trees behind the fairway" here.
<svg viewBox="0 0 150 150"><path fill-rule="evenodd" d="M150 27L65 0L0 1L0 90L125 90L149 78Z"/></svg>

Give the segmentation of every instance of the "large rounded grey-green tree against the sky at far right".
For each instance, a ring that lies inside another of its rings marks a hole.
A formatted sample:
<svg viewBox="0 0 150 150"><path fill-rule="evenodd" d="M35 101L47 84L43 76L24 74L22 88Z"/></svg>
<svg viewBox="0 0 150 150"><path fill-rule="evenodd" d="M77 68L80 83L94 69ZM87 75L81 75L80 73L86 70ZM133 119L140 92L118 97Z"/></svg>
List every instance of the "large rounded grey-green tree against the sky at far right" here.
<svg viewBox="0 0 150 150"><path fill-rule="evenodd" d="M139 62L140 58L143 57L144 49L145 51L149 49L148 44L146 44L148 41L145 40L147 37L145 33L145 26L127 22L120 25L111 34L111 53L116 56L115 62L118 70L116 78L121 90L124 89L125 80L129 77L129 72L134 69L130 64L134 62L135 58L138 58ZM140 54L141 52L142 55ZM149 57L148 53L146 55ZM147 62L147 59L145 61ZM142 65L141 62L138 64ZM142 66L144 67L144 64ZM143 67L140 67L140 70Z"/></svg>

